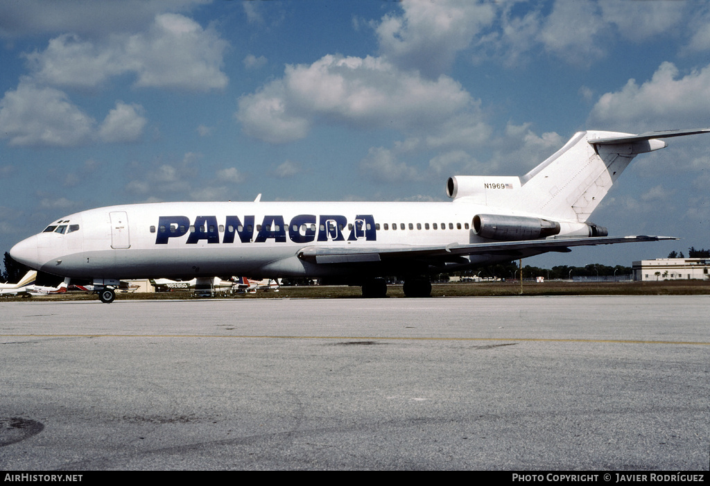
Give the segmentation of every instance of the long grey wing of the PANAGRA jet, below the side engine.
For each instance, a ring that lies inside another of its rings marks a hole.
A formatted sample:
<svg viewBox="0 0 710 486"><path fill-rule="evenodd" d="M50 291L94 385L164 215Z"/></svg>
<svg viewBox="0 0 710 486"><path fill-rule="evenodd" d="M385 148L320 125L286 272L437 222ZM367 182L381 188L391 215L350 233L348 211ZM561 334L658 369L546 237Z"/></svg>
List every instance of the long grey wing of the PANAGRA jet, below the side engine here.
<svg viewBox="0 0 710 486"><path fill-rule="evenodd" d="M496 241L492 243L471 243L459 245L432 246L366 246L360 248L315 247L303 248L297 253L298 258L311 263L366 263L393 260L398 258L415 258L420 260L447 260L464 255L510 255L515 258L518 252L524 250L541 250L567 253L570 246L611 245L613 243L636 243L640 241L677 240L670 236L596 236L592 238L546 238L543 240Z"/></svg>

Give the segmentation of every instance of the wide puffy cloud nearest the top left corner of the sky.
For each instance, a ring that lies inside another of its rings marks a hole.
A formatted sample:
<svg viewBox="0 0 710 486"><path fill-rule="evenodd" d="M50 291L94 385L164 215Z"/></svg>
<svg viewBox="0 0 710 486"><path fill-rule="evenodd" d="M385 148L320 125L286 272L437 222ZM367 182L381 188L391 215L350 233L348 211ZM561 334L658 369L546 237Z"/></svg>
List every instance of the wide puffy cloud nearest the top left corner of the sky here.
<svg viewBox="0 0 710 486"><path fill-rule="evenodd" d="M97 89L111 77L133 73L136 87L208 91L226 87L226 47L214 28L162 13L146 32L101 41L62 34L26 58L38 82L59 87Z"/></svg>

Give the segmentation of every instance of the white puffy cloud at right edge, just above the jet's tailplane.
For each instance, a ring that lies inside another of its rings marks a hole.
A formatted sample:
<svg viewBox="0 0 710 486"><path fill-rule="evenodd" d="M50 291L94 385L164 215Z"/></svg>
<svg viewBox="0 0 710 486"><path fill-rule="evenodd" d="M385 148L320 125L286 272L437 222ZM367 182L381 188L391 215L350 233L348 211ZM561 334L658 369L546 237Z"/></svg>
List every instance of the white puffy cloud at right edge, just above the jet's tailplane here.
<svg viewBox="0 0 710 486"><path fill-rule="evenodd" d="M663 62L643 84L629 79L618 92L603 94L589 116L619 129L660 130L706 126L710 113L710 66L681 76Z"/></svg>

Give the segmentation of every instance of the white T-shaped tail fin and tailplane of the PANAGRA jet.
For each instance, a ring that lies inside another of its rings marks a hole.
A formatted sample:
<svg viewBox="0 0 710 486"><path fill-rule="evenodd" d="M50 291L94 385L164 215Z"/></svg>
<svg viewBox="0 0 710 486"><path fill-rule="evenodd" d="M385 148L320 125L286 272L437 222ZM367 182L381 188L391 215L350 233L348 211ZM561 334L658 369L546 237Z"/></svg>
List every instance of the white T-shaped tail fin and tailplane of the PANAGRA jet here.
<svg viewBox="0 0 710 486"><path fill-rule="evenodd" d="M660 138L708 132L575 133L557 153L520 177L518 209L583 223L636 155L665 148Z"/></svg>

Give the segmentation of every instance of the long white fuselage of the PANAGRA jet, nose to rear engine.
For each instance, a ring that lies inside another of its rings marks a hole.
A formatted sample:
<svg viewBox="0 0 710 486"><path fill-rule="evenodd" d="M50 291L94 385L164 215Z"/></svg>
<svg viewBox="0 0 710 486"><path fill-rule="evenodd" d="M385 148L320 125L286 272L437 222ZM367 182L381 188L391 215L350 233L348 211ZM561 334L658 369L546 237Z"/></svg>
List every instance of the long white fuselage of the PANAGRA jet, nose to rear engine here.
<svg viewBox="0 0 710 486"><path fill-rule="evenodd" d="M37 262L33 266L38 270L62 277L94 279L422 273L431 270L429 265L315 265L297 253L319 246L414 248L477 243L485 240L474 234L471 218L481 212L490 213L491 208L455 201L109 206L65 216L48 228L54 226L53 231L18 243L13 256ZM58 232L60 226L67 227L63 233ZM71 227L75 230L68 231ZM477 255L467 260L479 263L492 258Z"/></svg>

